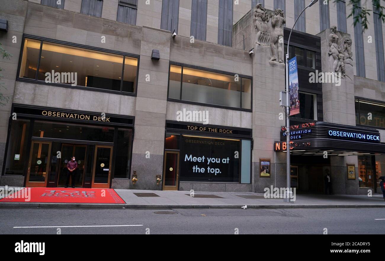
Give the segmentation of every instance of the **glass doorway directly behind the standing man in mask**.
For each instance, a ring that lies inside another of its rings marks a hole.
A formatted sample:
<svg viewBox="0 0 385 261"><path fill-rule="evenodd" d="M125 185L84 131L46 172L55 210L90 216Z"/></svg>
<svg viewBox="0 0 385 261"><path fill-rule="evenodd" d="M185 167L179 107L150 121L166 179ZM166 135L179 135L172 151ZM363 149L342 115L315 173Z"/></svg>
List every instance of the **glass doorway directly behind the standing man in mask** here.
<svg viewBox="0 0 385 261"><path fill-rule="evenodd" d="M65 185L67 180L67 163L71 160L72 156L75 156L77 161L77 173L75 175L75 186L83 186L83 176L85 168L85 151L86 145L74 145L74 144L63 144L61 150L61 159L59 167L59 178L57 180L57 186L62 187ZM70 180L69 185L72 181Z"/></svg>

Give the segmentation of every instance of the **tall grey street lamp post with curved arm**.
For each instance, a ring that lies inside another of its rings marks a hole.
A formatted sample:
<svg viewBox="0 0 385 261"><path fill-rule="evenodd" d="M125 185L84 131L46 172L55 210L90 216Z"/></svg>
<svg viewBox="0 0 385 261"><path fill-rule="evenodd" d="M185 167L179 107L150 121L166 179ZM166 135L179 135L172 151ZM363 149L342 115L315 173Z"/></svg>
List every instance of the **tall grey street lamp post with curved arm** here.
<svg viewBox="0 0 385 261"><path fill-rule="evenodd" d="M289 92L289 44L290 44L290 36L291 32L293 32L294 26L296 22L298 21L298 18L302 15L303 12L305 12L306 8L311 7L314 5L318 0L311 0L310 4L305 7L300 15L298 15L297 19L294 22L293 27L290 30L289 39L288 39L288 49L286 53L286 187L288 188L288 192L286 193L286 197L283 199L286 203L291 203L290 198L293 198L291 193L293 193L290 189L290 119L289 119L289 110L290 110L290 92Z"/></svg>

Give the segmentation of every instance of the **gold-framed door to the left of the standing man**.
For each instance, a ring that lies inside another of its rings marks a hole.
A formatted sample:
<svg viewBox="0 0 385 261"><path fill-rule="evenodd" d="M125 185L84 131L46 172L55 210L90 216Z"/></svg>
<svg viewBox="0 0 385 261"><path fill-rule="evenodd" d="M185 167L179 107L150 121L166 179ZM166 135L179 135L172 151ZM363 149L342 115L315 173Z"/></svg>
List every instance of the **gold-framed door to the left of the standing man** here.
<svg viewBox="0 0 385 261"><path fill-rule="evenodd" d="M47 187L51 160L50 141L32 141L26 187Z"/></svg>

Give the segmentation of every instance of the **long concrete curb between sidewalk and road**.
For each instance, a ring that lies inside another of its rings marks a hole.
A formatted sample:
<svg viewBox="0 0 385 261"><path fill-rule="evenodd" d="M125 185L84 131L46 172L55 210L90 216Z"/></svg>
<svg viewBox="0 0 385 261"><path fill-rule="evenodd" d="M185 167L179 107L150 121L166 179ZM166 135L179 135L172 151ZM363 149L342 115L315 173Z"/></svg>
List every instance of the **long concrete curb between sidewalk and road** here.
<svg viewBox="0 0 385 261"><path fill-rule="evenodd" d="M170 208L241 208L241 205L134 205L134 204L87 204L87 203L8 203L1 202L0 208L99 208L99 209L170 209ZM337 204L337 205L296 205L287 203L284 205L248 205L247 208L255 209L275 209L275 208L385 208L385 204L357 205L357 204Z"/></svg>

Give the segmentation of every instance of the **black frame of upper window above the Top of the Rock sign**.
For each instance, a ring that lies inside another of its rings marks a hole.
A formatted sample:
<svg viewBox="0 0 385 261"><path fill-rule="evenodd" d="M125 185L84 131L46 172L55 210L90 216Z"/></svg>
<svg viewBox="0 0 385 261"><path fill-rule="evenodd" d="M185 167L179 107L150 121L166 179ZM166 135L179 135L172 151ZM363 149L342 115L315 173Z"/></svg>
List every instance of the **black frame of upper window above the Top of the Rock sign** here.
<svg viewBox="0 0 385 261"><path fill-rule="evenodd" d="M182 84L183 84L183 67L188 67L192 69L198 69L198 70L204 70L204 71L211 71L214 73L221 73L224 75L231 75L234 76L235 74L238 74L239 78L241 78L240 85L241 85L241 106L242 106L242 78L247 78L251 80L251 101L250 101L250 109L244 109L244 108L236 108L236 107L229 107L229 106L224 106L224 105L216 105L216 104L211 104L211 103L201 103L197 101L186 101L186 100L181 100L181 99L174 99L174 98L169 98L169 89L170 89L170 69L171 65L177 65L177 66L182 66L182 72L181 72L181 93L182 93ZM188 65L185 63L178 63L178 62L171 62L169 63L169 73L168 73L168 82L167 82L167 101L174 101L178 103L186 103L186 104L195 104L195 105L201 105L201 106L208 106L208 107L214 107L214 108L223 108L223 109L229 109L229 110L237 110L237 111L248 111L248 112L253 112L253 76L249 75L243 75L239 73L230 73L228 71L220 71L220 70L215 70L215 69L210 69L210 68L204 68L201 66L195 66L195 65Z"/></svg>

